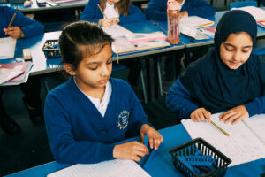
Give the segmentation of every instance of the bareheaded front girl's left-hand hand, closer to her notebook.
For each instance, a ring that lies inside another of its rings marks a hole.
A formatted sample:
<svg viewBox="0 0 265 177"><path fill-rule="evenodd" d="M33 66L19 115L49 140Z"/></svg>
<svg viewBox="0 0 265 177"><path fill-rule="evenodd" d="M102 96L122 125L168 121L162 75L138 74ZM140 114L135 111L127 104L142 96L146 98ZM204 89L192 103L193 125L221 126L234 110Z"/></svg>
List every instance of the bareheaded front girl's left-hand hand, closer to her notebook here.
<svg viewBox="0 0 265 177"><path fill-rule="evenodd" d="M131 159L140 162L145 155L149 155L148 147L140 142L125 142L113 149L113 158Z"/></svg>

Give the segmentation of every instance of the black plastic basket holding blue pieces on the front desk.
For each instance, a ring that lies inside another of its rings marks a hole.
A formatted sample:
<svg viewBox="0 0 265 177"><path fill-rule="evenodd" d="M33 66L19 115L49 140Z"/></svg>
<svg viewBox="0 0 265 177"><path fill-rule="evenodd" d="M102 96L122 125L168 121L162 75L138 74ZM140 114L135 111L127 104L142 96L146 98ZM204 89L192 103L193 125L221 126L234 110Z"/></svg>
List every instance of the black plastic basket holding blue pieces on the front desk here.
<svg viewBox="0 0 265 177"><path fill-rule="evenodd" d="M185 163L183 163L178 156L194 156L195 153L199 152L202 156L211 156L216 159L216 165L208 173L198 174L194 173ZM170 155L173 159L174 166L185 173L185 176L224 176L226 173L227 166L231 164L231 159L223 155L222 152L216 150L215 147L204 141L202 138L196 138L191 142L186 142L177 148L169 150Z"/></svg>

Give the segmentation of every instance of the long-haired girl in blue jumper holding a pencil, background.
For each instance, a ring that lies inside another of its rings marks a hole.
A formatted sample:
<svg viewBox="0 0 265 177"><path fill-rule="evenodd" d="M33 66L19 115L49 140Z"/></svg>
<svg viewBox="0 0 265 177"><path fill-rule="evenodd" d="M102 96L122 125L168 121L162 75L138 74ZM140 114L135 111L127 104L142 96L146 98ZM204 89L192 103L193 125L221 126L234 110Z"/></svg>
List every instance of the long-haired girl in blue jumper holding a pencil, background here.
<svg viewBox="0 0 265 177"><path fill-rule="evenodd" d="M103 17L98 4L108 19ZM87 3L84 12L80 14L80 19L93 21L103 27L110 27L117 23L142 21L146 17L130 0L93 0Z"/></svg>

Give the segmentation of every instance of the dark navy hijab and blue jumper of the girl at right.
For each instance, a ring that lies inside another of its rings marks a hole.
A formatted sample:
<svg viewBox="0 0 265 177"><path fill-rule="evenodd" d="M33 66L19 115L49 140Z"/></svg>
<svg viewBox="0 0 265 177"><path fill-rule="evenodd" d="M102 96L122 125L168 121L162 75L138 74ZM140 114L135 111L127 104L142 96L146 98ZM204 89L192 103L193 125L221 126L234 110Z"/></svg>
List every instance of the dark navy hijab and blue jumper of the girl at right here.
<svg viewBox="0 0 265 177"><path fill-rule="evenodd" d="M246 32L255 42L255 19L244 11L226 12L216 27L214 49L188 65L173 83L166 101L179 119L190 118L199 107L216 113L245 105L249 117L265 113L265 62L250 54L239 68L231 69L220 55L222 43L229 35L238 32Z"/></svg>

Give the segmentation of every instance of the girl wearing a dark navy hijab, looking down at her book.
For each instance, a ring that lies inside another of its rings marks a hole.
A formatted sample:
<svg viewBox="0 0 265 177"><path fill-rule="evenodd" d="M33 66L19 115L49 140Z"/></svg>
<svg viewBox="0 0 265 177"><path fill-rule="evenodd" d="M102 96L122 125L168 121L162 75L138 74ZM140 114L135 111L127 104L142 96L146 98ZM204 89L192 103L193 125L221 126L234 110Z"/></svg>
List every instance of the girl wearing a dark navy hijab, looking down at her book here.
<svg viewBox="0 0 265 177"><path fill-rule="evenodd" d="M231 11L216 27L215 47L186 68L166 101L179 119L210 121L211 113L235 124L265 113L265 63L252 54L257 24L247 12Z"/></svg>

